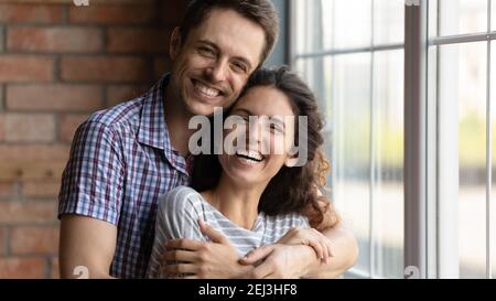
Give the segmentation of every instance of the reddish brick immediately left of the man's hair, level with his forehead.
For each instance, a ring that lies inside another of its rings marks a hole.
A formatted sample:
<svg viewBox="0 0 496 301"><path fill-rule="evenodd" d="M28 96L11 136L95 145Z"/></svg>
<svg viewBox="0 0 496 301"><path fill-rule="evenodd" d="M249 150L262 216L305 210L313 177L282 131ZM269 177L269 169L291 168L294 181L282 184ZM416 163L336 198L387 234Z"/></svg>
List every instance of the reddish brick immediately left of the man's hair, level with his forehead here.
<svg viewBox="0 0 496 301"><path fill-rule="evenodd" d="M166 53L171 31L164 29L109 29L110 53Z"/></svg>

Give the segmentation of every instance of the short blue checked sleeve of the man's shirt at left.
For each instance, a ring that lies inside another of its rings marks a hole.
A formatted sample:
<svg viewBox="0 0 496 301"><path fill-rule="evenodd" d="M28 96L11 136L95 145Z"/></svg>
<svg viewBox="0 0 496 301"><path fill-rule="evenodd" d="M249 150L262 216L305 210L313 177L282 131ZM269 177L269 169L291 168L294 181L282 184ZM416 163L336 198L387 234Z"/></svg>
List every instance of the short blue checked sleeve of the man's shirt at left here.
<svg viewBox="0 0 496 301"><path fill-rule="evenodd" d="M75 214L118 224L123 184L119 150L109 126L89 120L77 129L62 175L58 218Z"/></svg>

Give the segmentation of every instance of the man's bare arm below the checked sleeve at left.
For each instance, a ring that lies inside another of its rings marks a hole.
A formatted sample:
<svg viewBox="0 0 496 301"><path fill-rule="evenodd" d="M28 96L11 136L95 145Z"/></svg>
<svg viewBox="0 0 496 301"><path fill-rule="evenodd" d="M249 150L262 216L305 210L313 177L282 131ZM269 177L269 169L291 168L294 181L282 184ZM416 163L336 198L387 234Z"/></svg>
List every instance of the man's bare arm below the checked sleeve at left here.
<svg viewBox="0 0 496 301"><path fill-rule="evenodd" d="M76 267L88 269L89 278L111 278L117 227L96 218L63 215L61 218L61 278L77 278Z"/></svg>

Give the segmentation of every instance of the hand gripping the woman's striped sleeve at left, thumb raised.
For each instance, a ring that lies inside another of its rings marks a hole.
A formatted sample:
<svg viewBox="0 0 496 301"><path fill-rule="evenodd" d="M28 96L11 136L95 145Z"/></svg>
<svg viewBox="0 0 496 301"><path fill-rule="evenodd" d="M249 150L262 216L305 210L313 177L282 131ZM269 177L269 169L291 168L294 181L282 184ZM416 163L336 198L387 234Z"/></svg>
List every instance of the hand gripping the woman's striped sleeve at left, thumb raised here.
<svg viewBox="0 0 496 301"><path fill-rule="evenodd" d="M252 267L240 265L236 248L220 233L203 221L200 228L212 241L175 239L166 244L162 257L162 272L169 276L191 275L187 278L240 278ZM168 261L174 261L169 265Z"/></svg>

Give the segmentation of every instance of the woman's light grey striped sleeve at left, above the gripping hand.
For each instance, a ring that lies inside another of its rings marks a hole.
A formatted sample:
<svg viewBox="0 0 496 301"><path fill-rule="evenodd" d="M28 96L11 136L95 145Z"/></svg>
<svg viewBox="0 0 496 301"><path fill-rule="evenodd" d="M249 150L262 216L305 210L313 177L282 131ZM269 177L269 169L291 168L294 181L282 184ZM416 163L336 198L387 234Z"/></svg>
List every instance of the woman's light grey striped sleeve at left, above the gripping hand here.
<svg viewBox="0 0 496 301"><path fill-rule="evenodd" d="M186 238L207 241L198 225L198 218L203 216L200 202L191 192L191 189L179 187L162 196L159 202L155 238L147 272L149 278L162 277L160 261L168 240Z"/></svg>

